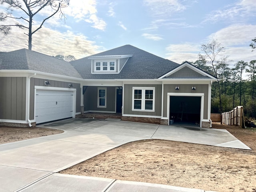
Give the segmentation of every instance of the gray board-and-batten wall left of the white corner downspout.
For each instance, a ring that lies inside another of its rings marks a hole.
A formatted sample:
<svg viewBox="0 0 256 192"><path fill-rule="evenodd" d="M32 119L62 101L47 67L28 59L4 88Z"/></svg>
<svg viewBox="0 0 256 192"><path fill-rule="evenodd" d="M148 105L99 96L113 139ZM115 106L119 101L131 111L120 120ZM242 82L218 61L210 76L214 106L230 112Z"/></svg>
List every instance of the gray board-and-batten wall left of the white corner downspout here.
<svg viewBox="0 0 256 192"><path fill-rule="evenodd" d="M0 119L26 120L26 77L0 77Z"/></svg>

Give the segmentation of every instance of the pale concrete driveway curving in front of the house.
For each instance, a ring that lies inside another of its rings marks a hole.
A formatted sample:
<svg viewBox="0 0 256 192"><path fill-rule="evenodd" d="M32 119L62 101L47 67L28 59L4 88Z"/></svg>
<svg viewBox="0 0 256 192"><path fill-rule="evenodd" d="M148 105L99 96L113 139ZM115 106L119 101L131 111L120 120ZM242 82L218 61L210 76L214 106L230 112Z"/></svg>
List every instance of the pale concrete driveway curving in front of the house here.
<svg viewBox="0 0 256 192"><path fill-rule="evenodd" d="M0 145L0 191L201 192L204 190L56 172L116 146L150 138L250 149L226 130L82 118L41 127L65 132Z"/></svg>

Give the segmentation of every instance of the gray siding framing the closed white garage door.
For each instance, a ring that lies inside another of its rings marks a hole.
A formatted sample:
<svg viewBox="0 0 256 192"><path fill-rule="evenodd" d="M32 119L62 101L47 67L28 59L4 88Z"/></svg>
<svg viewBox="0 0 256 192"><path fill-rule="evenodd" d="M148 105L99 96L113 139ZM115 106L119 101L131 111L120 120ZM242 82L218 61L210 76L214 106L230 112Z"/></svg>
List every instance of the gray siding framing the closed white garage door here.
<svg viewBox="0 0 256 192"><path fill-rule="evenodd" d="M34 86L48 86L48 87L60 87L60 88L70 88L68 87L68 84L70 82L63 82L63 81L56 81L56 80L48 80L50 82L50 85L45 85L44 81L46 79L39 79L39 78L31 78L30 79L30 120L34 119L34 93L35 88ZM72 83L73 87L76 89L76 112L81 111L81 88L79 83Z"/></svg>

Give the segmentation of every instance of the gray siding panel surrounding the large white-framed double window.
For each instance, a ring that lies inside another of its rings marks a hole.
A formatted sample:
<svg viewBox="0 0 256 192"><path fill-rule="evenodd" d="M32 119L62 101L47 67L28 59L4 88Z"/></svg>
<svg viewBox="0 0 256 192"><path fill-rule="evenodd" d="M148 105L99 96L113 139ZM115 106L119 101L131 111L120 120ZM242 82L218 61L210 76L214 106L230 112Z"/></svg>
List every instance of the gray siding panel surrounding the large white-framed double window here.
<svg viewBox="0 0 256 192"><path fill-rule="evenodd" d="M132 111L132 87L155 87L155 111ZM124 85L124 114L162 116L162 84L125 84Z"/></svg>

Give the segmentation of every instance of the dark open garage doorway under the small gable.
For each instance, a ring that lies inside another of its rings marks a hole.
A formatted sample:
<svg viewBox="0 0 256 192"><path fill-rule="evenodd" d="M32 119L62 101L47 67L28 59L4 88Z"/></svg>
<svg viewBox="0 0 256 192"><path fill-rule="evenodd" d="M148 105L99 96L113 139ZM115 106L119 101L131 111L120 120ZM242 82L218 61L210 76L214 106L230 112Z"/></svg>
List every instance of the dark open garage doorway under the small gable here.
<svg viewBox="0 0 256 192"><path fill-rule="evenodd" d="M200 126L200 96L170 96L170 125Z"/></svg>

